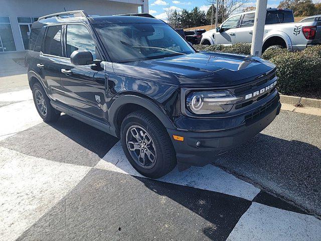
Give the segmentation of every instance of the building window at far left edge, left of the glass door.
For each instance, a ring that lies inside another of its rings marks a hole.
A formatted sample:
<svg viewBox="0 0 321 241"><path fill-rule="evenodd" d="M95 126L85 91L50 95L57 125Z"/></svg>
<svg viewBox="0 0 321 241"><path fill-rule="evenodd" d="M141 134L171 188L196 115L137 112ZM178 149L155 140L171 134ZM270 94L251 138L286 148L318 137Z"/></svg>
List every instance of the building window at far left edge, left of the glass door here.
<svg viewBox="0 0 321 241"><path fill-rule="evenodd" d="M17 51L10 18L0 16L0 52Z"/></svg>

